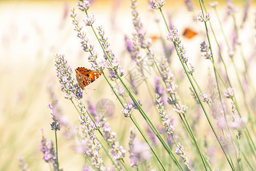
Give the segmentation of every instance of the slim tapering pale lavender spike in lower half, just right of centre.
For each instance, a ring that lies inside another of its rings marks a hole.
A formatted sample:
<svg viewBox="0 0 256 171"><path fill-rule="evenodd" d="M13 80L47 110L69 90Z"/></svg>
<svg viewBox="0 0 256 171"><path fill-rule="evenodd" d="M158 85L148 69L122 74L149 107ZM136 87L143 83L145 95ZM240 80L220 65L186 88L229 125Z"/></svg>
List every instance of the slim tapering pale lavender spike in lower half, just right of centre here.
<svg viewBox="0 0 256 171"><path fill-rule="evenodd" d="M164 106L162 105L162 101L161 101L161 97L156 94L156 101L157 101L157 107L159 108L159 114L161 117L161 121L163 122L164 128L165 128L165 132L169 135L169 136L173 136L174 133L174 125L173 123L170 121L169 116L167 115Z"/></svg>

